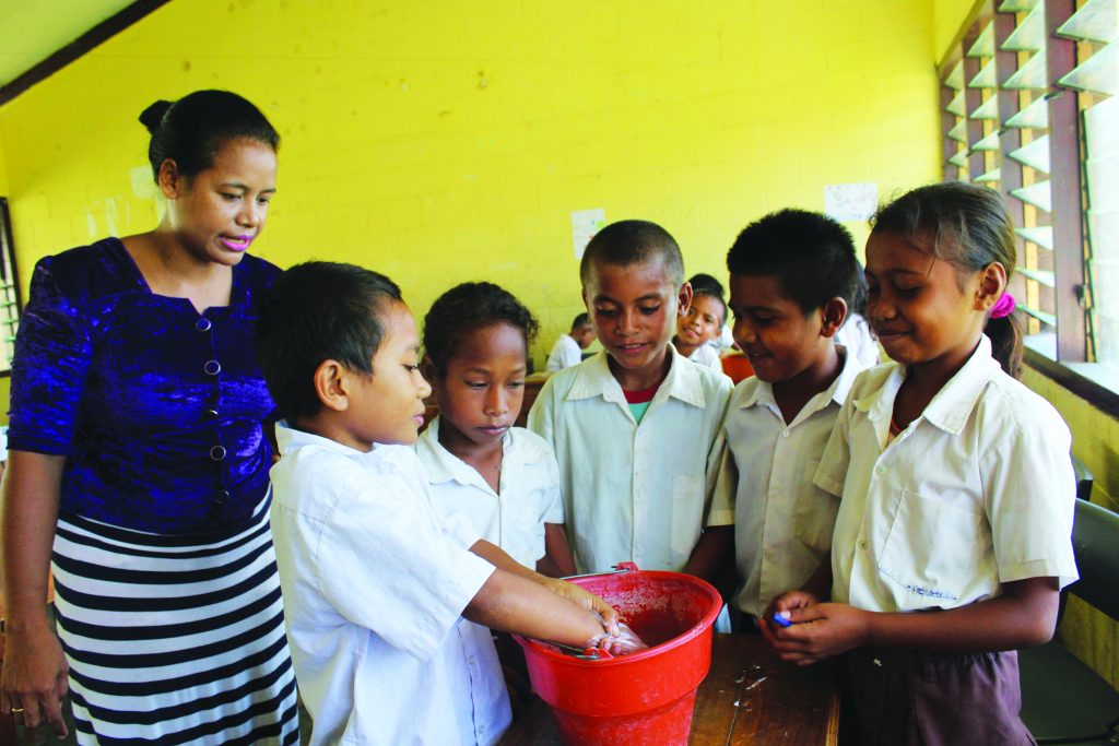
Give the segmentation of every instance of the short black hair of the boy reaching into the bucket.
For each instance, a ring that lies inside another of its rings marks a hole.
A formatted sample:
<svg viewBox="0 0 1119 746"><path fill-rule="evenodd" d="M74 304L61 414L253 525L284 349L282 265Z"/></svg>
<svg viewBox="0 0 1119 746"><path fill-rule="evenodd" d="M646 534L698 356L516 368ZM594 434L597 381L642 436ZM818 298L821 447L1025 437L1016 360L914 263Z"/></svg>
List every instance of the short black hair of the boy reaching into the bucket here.
<svg viewBox="0 0 1119 746"><path fill-rule="evenodd" d="M314 370L323 360L373 374L388 301L401 301L388 277L352 264L307 262L281 274L261 298L256 358L281 417L319 412Z"/></svg>

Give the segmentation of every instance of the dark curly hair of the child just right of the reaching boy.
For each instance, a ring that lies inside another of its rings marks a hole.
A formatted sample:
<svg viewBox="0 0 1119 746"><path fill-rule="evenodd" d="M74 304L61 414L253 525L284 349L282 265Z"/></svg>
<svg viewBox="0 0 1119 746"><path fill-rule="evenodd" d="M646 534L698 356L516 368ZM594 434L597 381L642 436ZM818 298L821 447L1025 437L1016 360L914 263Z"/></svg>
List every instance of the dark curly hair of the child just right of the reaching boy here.
<svg viewBox="0 0 1119 746"><path fill-rule="evenodd" d="M423 320L424 353L435 374L442 377L446 372L448 362L466 337L500 323L520 330L526 351L539 329L513 293L491 282L464 282L440 295Z"/></svg>

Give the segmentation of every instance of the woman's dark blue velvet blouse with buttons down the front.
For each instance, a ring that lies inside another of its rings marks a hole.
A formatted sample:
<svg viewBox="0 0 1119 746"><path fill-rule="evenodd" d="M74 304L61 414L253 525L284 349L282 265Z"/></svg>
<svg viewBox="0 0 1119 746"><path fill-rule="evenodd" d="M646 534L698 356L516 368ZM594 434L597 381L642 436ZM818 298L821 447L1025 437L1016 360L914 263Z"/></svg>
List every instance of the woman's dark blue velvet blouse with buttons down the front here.
<svg viewBox="0 0 1119 746"><path fill-rule="evenodd" d="M274 409L254 309L279 273L245 256L229 305L199 314L153 294L116 238L36 265L8 445L66 456L62 511L156 533L246 523L267 491Z"/></svg>

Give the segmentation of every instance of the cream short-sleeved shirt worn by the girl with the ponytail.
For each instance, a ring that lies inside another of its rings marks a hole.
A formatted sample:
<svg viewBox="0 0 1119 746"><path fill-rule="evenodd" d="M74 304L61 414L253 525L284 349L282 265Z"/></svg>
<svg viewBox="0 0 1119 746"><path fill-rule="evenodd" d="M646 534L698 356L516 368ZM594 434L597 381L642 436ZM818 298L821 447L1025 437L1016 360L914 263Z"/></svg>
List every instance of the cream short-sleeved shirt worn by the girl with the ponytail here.
<svg viewBox="0 0 1119 746"><path fill-rule="evenodd" d="M1076 579L1071 435L1045 399L979 347L887 444L904 368L852 387L816 474L841 494L835 601L877 612L955 608L1003 583Z"/></svg>

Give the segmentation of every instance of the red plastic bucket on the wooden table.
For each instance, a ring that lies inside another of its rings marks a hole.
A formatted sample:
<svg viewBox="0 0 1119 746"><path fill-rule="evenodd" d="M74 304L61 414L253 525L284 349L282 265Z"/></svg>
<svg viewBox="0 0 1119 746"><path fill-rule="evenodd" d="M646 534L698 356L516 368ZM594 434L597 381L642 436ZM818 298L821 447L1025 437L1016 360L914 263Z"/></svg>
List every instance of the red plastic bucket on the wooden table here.
<svg viewBox="0 0 1119 746"><path fill-rule="evenodd" d="M572 583L613 605L649 650L617 658L595 651L599 658L589 659L518 636L533 688L552 707L568 744L687 744L723 601L690 575L619 567L632 569Z"/></svg>

